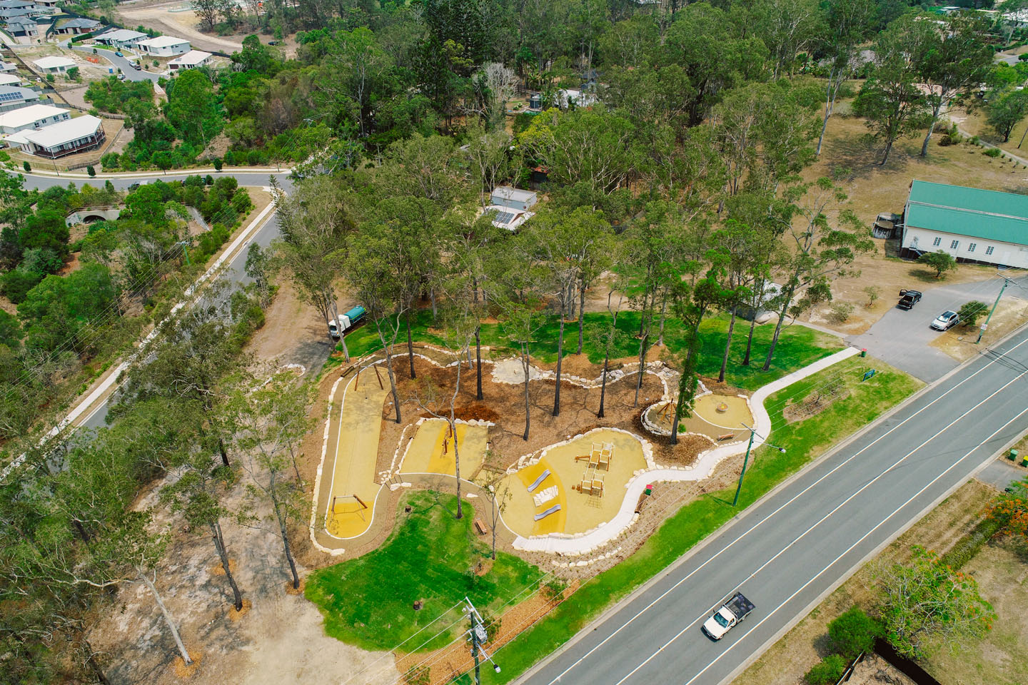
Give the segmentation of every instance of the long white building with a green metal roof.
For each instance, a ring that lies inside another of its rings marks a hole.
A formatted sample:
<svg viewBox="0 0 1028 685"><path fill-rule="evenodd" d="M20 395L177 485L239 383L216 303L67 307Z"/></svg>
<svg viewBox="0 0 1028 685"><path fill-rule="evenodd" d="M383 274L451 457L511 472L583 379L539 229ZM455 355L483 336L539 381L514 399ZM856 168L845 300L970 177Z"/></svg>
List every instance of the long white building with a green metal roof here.
<svg viewBox="0 0 1028 685"><path fill-rule="evenodd" d="M945 252L961 262L1028 268L1028 195L914 181L903 257Z"/></svg>

